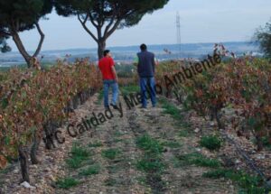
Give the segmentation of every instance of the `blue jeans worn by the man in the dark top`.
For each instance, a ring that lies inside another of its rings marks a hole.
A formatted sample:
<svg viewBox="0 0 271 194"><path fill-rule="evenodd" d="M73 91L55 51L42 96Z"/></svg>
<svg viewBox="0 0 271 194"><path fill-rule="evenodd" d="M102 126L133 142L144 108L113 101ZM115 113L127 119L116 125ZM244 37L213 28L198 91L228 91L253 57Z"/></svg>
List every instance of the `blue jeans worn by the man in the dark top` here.
<svg viewBox="0 0 271 194"><path fill-rule="evenodd" d="M151 97L153 106L156 105L155 79L140 78L141 103L143 107L147 106L147 97Z"/></svg>

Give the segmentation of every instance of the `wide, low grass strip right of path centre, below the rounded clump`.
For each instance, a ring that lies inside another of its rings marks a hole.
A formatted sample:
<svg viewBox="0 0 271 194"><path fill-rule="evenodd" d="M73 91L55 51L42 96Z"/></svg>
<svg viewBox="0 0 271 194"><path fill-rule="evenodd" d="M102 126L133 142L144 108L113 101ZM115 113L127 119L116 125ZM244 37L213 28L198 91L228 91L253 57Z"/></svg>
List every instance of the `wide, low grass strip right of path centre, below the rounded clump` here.
<svg viewBox="0 0 271 194"><path fill-rule="evenodd" d="M176 156L176 158L179 161L178 162L179 166L194 164L196 166L201 167L218 168L221 165L221 163L218 160L206 158L205 156L198 152L179 155Z"/></svg>

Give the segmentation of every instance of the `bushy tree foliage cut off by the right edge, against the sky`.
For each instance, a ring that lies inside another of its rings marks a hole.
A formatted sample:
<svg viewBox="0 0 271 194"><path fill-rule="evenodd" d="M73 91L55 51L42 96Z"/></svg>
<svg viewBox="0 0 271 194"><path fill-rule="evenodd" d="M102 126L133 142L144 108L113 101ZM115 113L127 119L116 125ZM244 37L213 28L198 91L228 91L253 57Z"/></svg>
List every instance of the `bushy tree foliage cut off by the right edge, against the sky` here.
<svg viewBox="0 0 271 194"><path fill-rule="evenodd" d="M260 44L261 51L271 59L271 21L265 27L260 27L255 33L256 41Z"/></svg>

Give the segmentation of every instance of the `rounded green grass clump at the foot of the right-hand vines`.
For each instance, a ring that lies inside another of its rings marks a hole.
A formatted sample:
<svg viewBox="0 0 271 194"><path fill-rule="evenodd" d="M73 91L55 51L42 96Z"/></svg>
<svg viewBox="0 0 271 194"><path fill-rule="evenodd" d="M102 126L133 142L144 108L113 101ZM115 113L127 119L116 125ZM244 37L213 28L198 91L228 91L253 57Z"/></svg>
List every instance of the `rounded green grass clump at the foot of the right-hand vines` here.
<svg viewBox="0 0 271 194"><path fill-rule="evenodd" d="M210 151L220 150L222 141L219 136L217 135L209 135L201 137L200 142L202 147L206 147Z"/></svg>

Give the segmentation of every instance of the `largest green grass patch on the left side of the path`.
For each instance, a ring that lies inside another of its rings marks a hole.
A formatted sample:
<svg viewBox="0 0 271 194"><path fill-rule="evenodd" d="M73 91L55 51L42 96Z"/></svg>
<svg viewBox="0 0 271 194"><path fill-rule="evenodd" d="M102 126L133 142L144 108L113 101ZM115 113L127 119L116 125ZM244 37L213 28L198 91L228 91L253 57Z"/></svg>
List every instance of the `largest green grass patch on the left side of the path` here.
<svg viewBox="0 0 271 194"><path fill-rule="evenodd" d="M71 148L71 157L66 160L66 163L70 169L78 169L82 166L83 162L89 160L91 153L79 146L79 144L74 143Z"/></svg>

